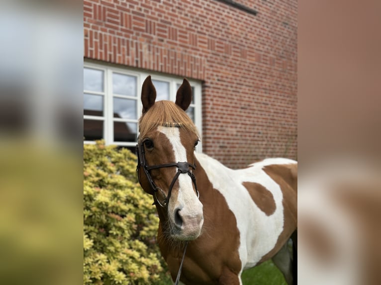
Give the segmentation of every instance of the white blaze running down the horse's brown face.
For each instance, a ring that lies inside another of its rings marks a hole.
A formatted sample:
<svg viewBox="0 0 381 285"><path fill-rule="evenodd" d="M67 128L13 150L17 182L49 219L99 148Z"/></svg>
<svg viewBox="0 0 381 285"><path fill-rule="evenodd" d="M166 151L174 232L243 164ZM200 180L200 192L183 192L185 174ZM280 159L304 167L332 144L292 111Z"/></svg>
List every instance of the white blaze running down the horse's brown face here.
<svg viewBox="0 0 381 285"><path fill-rule="evenodd" d="M158 131L164 134L171 143L175 155L175 162L188 161L187 151L184 145L181 143L179 128L159 126ZM193 163L193 161L191 161L190 163ZM176 209L180 209L181 214L184 217L187 216L189 218L192 218L202 215L202 204L198 200L197 195L193 190L191 177L187 173L180 174L178 181L179 192L177 201L171 201L173 197L171 196L168 206L168 213L174 213ZM169 216L171 219L174 218L173 214L170 214ZM193 224L192 226L194 227L195 225ZM200 224L197 225L197 227L201 228L201 226L202 220Z"/></svg>

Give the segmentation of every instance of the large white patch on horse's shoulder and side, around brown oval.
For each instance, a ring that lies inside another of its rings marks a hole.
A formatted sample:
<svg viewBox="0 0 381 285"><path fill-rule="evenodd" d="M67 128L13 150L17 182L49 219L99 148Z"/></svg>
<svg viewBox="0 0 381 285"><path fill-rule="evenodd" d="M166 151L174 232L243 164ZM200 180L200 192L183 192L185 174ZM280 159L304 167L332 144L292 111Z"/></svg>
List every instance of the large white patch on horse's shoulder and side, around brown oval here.
<svg viewBox="0 0 381 285"><path fill-rule="evenodd" d="M253 163L249 168L233 170L206 154L195 153L195 155L213 184L213 188L224 196L229 209L235 215L240 233L238 251L242 270L255 266L275 247L284 227L282 190L267 175L263 167L273 164L294 164L296 161L286 158L269 158ZM268 189L274 197L275 212L270 216L262 212L242 185L243 182L258 183Z"/></svg>

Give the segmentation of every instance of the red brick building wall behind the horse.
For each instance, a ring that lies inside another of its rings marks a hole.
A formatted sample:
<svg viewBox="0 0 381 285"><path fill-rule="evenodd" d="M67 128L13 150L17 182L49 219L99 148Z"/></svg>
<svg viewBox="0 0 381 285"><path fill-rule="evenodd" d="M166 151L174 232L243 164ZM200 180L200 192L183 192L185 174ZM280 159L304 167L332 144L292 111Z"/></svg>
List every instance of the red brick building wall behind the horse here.
<svg viewBox="0 0 381 285"><path fill-rule="evenodd" d="M200 79L203 151L297 157L297 1L84 0L84 57Z"/></svg>

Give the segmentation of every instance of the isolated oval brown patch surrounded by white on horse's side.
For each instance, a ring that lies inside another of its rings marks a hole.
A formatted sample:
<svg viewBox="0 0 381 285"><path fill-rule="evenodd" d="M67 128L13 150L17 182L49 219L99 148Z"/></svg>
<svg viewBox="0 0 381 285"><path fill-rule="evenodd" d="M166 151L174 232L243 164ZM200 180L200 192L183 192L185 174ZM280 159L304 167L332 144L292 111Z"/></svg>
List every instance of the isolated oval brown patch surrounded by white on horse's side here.
<svg viewBox="0 0 381 285"><path fill-rule="evenodd" d="M254 182L243 182L242 185L249 192L251 199L265 214L274 214L277 206L273 194L263 185Z"/></svg>

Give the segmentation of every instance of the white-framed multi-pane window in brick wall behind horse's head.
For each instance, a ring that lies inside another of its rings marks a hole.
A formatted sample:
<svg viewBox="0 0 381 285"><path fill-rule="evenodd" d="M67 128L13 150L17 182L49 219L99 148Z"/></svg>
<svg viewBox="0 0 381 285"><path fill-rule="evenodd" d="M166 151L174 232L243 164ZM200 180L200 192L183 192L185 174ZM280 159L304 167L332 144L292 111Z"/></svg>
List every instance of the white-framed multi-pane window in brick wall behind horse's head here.
<svg viewBox="0 0 381 285"><path fill-rule="evenodd" d="M141 85L148 75L156 88L156 101L176 100L182 78L84 64L84 143L104 139L106 144L128 147L135 152L142 111ZM190 83L193 96L187 114L201 134L201 84L194 80ZM201 143L196 150L202 151Z"/></svg>

